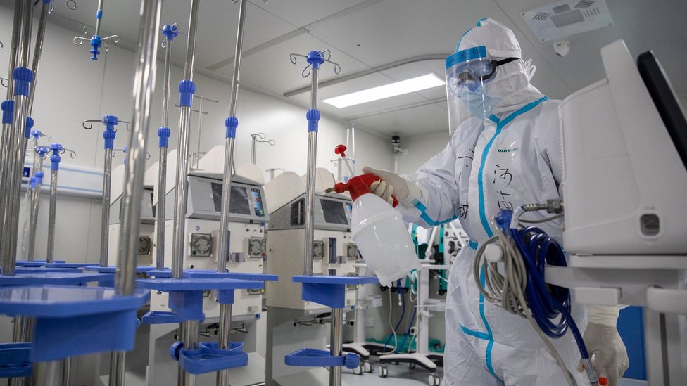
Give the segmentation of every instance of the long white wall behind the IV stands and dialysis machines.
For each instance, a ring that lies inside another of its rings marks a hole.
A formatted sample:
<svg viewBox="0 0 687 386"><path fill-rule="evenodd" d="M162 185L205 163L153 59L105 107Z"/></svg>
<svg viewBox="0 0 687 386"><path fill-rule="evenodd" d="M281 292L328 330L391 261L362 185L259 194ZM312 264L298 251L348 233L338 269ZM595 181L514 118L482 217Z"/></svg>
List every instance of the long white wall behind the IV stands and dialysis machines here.
<svg viewBox="0 0 687 386"><path fill-rule="evenodd" d="M0 6L0 41L5 49L0 50L0 74L6 74L9 60L13 11ZM34 22L34 27L37 22ZM103 127L95 126L87 131L81 126L83 120L99 119L103 115L117 115L120 120L132 117L132 83L134 53L111 46L106 60L89 58L89 46L75 46L72 42L75 32L49 24L46 33L41 67L37 79L37 92L32 116L36 129L53 137L77 152L73 160L64 159L63 165L78 165L101 169L103 165ZM101 50L102 51L102 50ZM103 71L105 79L103 80ZM170 150L177 148L178 103L177 84L182 69L172 67L172 92L168 126L172 129ZM158 62L156 94L153 98L151 127L147 148L151 153L149 165L158 158L157 128L162 114L163 63ZM215 79L196 76L196 94L220 100L220 103L206 103L201 134L201 151L225 142L225 117L228 114L229 85ZM194 108L197 103L194 104ZM251 133L265 132L277 144L258 148L257 164L263 171L271 167L305 173L306 127L305 108L284 103L275 98L241 89L237 117L235 162L242 165L250 161ZM127 145L128 136L123 124L118 127L115 148ZM358 127L356 156L358 165L375 165L391 169L391 150L385 137L370 134ZM191 132L191 151L196 151L198 140L197 120L194 117ZM317 165L335 172L329 162L334 158L334 146L346 140L345 123L323 117L318 136ZM113 158L113 168L123 162L122 155ZM174 162L174 160L170 160ZM265 172L265 181L269 180ZM113 181L113 184L115 182ZM43 195L39 214L37 259L45 256L47 195ZM56 251L57 259L71 262L97 262L99 259L101 205L99 199L60 197L57 208Z"/></svg>

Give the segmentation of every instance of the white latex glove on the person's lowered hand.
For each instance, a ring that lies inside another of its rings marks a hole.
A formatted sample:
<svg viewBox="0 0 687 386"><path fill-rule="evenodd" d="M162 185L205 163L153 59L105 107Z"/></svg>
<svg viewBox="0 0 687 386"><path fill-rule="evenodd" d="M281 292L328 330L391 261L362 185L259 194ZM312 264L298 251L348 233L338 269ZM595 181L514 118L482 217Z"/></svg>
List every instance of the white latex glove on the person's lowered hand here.
<svg viewBox="0 0 687 386"><path fill-rule="evenodd" d="M616 326L619 307L589 307L589 323L584 330L584 344L597 376L608 380L609 386L618 386L620 378L629 366L625 344ZM577 371L583 371L580 362Z"/></svg>

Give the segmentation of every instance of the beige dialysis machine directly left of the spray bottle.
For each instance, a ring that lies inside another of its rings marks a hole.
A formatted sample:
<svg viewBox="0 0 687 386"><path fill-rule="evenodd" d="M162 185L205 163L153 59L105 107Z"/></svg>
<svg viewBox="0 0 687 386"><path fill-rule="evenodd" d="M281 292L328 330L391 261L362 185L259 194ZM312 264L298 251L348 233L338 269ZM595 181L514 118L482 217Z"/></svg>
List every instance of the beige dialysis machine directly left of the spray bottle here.
<svg viewBox="0 0 687 386"><path fill-rule="evenodd" d="M351 238L351 198L327 194L334 175L317 169L313 275L355 275L358 247ZM270 212L267 273L279 281L267 291L266 385L324 385L326 368L286 366L284 356L302 347L324 348L329 342L329 308L301 300L301 285L289 278L303 274L305 250L305 183L284 172L265 186ZM346 307L355 309L355 287L346 288Z"/></svg>

